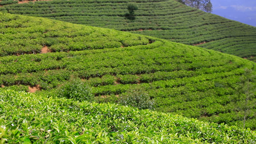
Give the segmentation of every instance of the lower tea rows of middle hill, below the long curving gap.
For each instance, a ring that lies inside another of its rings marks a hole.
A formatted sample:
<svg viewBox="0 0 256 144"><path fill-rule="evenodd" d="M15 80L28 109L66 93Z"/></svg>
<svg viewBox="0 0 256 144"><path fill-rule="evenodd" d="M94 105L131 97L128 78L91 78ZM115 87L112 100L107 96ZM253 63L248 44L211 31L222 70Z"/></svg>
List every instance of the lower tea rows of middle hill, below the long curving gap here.
<svg viewBox="0 0 256 144"><path fill-rule="evenodd" d="M233 112L229 106L245 68L255 73L253 62L236 56L155 39L123 48L4 56L0 85L16 90L37 86L42 89L37 93L54 95L66 81L80 78L95 96L123 96L139 89L155 101L157 111L198 119L219 116L218 123L234 124L242 118L230 116L228 121L221 114ZM225 110L214 111L219 105ZM246 127L255 129L254 122L251 116Z"/></svg>

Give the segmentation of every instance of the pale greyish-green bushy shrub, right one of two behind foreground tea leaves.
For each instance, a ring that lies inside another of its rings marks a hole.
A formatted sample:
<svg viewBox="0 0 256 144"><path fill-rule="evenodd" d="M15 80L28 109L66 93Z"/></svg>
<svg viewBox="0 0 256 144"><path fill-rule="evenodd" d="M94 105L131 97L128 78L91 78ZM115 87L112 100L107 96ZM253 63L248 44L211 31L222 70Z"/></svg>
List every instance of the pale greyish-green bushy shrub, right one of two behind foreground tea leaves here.
<svg viewBox="0 0 256 144"><path fill-rule="evenodd" d="M120 95L120 101L118 103L122 105L137 107L142 110L154 110L155 106L155 101L152 100L149 95L145 93L142 89L134 89Z"/></svg>

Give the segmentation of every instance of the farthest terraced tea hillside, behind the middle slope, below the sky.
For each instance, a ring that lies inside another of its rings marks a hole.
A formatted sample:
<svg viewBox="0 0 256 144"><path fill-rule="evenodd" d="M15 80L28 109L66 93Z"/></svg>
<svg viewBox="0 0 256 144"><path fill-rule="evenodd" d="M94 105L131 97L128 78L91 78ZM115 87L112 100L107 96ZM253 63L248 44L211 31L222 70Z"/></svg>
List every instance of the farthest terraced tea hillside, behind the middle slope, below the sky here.
<svg viewBox="0 0 256 144"><path fill-rule="evenodd" d="M127 16L126 8L130 3L138 6L132 17ZM214 49L256 62L255 27L174 0L36 1L4 5L0 11L129 31Z"/></svg>

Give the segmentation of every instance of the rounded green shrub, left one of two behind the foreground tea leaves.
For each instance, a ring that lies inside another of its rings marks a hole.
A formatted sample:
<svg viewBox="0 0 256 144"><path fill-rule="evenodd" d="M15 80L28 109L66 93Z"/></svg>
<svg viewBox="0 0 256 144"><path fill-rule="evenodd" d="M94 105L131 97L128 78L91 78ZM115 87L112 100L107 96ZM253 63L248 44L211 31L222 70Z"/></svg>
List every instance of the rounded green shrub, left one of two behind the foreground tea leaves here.
<svg viewBox="0 0 256 144"><path fill-rule="evenodd" d="M90 87L85 85L80 79L72 79L60 86L58 97L72 98L78 101L91 102L94 100Z"/></svg>

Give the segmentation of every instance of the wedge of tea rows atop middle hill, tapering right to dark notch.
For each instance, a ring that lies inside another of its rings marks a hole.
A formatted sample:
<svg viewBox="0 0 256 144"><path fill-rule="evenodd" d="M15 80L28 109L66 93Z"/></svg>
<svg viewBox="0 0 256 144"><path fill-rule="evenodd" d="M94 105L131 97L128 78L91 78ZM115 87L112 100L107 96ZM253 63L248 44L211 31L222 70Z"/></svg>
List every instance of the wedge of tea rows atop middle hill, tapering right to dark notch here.
<svg viewBox="0 0 256 144"><path fill-rule="evenodd" d="M44 18L0 13L0 56L77 51L148 44L149 39L110 29L94 29Z"/></svg>

